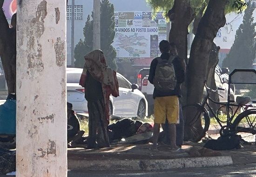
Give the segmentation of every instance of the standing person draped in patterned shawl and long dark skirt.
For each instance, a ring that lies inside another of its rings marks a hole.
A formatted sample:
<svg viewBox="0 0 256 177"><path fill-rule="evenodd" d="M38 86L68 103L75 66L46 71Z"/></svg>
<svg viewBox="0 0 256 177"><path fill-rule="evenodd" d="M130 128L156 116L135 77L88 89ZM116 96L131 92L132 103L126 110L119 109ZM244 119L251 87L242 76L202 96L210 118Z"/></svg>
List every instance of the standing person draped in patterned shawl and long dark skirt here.
<svg viewBox="0 0 256 177"><path fill-rule="evenodd" d="M88 101L89 135L87 148L109 147L106 127L109 124L109 96L119 96L116 72L109 68L101 50L88 53L79 84Z"/></svg>

